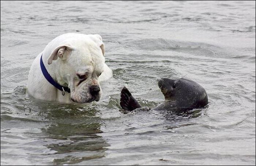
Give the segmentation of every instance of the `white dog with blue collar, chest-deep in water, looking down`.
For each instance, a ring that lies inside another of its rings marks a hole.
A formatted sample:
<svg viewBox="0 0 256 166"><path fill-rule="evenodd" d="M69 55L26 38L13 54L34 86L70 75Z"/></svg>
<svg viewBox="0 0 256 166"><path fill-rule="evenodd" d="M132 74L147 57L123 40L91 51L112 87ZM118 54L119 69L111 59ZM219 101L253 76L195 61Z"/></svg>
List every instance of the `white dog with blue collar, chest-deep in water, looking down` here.
<svg viewBox="0 0 256 166"><path fill-rule="evenodd" d="M37 99L70 103L99 101L99 81L109 79L100 35L67 33L53 39L35 58L27 92ZM71 101L72 100L72 101Z"/></svg>

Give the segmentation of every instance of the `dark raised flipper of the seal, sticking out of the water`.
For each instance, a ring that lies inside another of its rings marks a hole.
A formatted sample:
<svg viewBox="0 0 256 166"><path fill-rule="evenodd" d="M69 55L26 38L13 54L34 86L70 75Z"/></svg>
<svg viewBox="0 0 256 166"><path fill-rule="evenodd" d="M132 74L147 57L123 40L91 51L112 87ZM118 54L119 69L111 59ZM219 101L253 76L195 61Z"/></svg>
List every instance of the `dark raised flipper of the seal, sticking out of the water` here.
<svg viewBox="0 0 256 166"><path fill-rule="evenodd" d="M120 106L127 111L142 107L126 87L121 90Z"/></svg>

